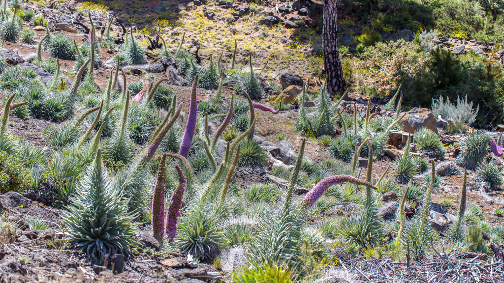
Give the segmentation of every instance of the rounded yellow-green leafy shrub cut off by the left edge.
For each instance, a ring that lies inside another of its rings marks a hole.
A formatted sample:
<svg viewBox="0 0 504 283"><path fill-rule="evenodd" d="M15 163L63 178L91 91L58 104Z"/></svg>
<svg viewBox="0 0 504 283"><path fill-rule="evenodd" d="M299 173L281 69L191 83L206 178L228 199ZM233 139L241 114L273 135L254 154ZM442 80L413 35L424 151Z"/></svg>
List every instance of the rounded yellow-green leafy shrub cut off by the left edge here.
<svg viewBox="0 0 504 283"><path fill-rule="evenodd" d="M14 156L9 156L6 152L0 152L0 191L23 192L30 187L31 174L23 167L21 161Z"/></svg>

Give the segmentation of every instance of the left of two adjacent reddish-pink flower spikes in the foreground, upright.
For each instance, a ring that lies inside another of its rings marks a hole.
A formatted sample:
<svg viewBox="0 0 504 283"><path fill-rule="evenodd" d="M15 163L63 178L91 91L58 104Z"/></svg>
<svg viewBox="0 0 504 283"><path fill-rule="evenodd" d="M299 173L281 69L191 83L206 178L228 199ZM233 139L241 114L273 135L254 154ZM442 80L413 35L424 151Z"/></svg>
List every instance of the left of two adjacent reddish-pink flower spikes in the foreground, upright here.
<svg viewBox="0 0 504 283"><path fill-rule="evenodd" d="M152 194L152 233L154 238L158 240L159 244L163 243L163 236L165 230L164 223L164 194L165 194L165 181L166 181L166 154L161 157L159 163L158 175L156 183L154 184L154 192Z"/></svg>

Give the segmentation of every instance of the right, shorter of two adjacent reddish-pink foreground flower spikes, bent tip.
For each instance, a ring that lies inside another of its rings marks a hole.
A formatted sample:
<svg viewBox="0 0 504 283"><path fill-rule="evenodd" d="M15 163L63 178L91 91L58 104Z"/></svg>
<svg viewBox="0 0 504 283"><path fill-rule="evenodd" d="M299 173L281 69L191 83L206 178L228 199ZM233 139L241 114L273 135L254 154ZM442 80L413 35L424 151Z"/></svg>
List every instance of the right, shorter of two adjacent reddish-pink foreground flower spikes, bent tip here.
<svg viewBox="0 0 504 283"><path fill-rule="evenodd" d="M166 237L168 241L173 241L175 234L177 233L177 221L180 214L180 208L183 203L183 196L185 192L185 177L182 169L178 165L175 165L178 173L178 186L173 191L171 196L170 205L168 206L168 212L166 213Z"/></svg>

